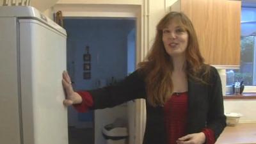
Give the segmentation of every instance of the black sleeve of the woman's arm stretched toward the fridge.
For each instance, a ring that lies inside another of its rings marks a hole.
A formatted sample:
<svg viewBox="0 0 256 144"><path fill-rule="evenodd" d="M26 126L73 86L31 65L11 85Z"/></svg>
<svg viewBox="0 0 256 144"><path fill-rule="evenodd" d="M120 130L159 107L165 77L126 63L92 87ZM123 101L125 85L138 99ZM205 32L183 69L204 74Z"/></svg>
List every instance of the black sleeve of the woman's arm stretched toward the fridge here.
<svg viewBox="0 0 256 144"><path fill-rule="evenodd" d="M112 108L129 100L145 98L145 83L141 73L136 70L113 86L88 92L93 99L90 109Z"/></svg>

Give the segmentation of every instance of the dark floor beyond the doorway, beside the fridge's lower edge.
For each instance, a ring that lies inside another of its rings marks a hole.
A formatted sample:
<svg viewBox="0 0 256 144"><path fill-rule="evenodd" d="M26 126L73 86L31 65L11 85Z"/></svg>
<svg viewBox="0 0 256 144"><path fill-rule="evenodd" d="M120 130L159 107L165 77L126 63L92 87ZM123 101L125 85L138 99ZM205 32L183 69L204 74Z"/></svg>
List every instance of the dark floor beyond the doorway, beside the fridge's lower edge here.
<svg viewBox="0 0 256 144"><path fill-rule="evenodd" d="M93 129L68 127L68 144L94 144Z"/></svg>

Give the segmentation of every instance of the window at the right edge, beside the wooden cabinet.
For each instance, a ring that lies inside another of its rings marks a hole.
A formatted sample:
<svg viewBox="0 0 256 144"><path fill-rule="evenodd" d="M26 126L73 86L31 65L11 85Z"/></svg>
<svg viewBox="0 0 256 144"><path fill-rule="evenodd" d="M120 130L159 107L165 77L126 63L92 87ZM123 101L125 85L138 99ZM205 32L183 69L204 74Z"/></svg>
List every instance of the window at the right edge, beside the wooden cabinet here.
<svg viewBox="0 0 256 144"><path fill-rule="evenodd" d="M243 81L244 92L256 92L256 7L242 7L240 68L226 72L227 85Z"/></svg>

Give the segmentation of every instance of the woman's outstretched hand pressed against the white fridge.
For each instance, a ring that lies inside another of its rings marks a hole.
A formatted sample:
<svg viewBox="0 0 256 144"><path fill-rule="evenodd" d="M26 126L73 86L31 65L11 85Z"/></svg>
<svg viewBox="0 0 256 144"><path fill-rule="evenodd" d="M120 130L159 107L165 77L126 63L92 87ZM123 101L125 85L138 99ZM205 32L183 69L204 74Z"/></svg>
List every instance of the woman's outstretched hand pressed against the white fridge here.
<svg viewBox="0 0 256 144"><path fill-rule="evenodd" d="M71 84L71 79L68 76L68 72L64 71L62 73L62 85L63 88L65 89L65 94L66 94L66 99L63 100L63 104L65 106L70 106L72 104L80 104L82 102L82 97L74 92Z"/></svg>

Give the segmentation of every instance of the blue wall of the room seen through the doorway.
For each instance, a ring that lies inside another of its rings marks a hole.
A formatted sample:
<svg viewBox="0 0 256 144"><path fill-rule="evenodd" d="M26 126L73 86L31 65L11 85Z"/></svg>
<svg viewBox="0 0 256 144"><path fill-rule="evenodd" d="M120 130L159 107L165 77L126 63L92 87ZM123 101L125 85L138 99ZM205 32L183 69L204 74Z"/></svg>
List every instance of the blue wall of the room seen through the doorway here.
<svg viewBox="0 0 256 144"><path fill-rule="evenodd" d="M127 76L127 57L130 57L129 63L135 63L135 39L133 42L131 40L135 36L129 36L131 44L128 44L127 40L132 29L133 35L135 35L135 20L64 19L64 24L68 34L67 67L72 81L74 81L75 90L92 90L99 87L97 84L99 80L109 84L111 77L120 81ZM90 47L92 57L91 79L87 80L83 79L83 54L86 53L86 45ZM130 50L127 45L130 45ZM127 54L127 51L130 51L130 54ZM92 121L92 111L79 114L79 120Z"/></svg>

